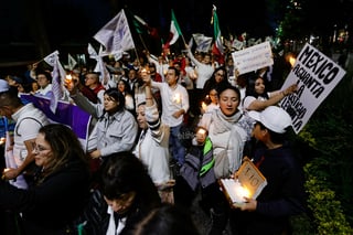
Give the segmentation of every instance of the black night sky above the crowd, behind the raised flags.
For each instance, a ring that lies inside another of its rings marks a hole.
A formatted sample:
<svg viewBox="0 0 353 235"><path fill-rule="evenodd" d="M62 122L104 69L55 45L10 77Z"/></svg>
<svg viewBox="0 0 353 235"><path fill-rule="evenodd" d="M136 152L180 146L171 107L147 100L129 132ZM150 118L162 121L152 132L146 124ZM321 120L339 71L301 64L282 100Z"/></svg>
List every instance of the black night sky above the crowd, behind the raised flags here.
<svg viewBox="0 0 353 235"><path fill-rule="evenodd" d="M25 0L28 1L28 0ZM217 7L222 35L228 38L229 33L239 35L247 32L254 38L265 38L274 34L276 19L284 13L279 4L288 0L35 0L42 9L42 21L52 50L67 43L87 45L95 42L93 35L113 19L121 8L131 10L141 17L151 26L158 28L163 41L168 39L171 9L188 41L192 33L204 33L213 36L211 25L212 6ZM352 2L353 0L332 0L332 2ZM32 1L29 1L30 3ZM318 14L325 8L320 0L312 0L313 9ZM28 3L26 3L28 4ZM318 8L318 9L317 9ZM327 3L328 13L318 23L329 20L331 6ZM314 14L313 14L314 15ZM29 32L29 17L36 18L35 12L29 12L23 0L1 2L0 8L0 61L10 60L14 54L9 45L33 44L33 36ZM313 22L313 21L311 21ZM328 24L325 24L328 28ZM136 40L135 40L136 41ZM32 46L33 47L33 46ZM23 50L26 51L26 50ZM17 60L31 57L26 53L18 54Z"/></svg>

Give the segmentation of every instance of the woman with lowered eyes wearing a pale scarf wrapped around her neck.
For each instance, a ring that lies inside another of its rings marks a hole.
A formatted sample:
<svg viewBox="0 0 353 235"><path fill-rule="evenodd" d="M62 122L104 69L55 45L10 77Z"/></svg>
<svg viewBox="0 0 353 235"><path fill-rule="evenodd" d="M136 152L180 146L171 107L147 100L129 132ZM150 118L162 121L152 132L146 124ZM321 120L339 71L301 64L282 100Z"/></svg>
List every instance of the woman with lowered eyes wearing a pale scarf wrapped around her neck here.
<svg viewBox="0 0 353 235"><path fill-rule="evenodd" d="M220 108L202 116L199 126L205 127L213 143L216 179L228 178L242 163L245 142L250 139L254 120L238 109L240 92L231 84L217 88ZM208 234L222 234L228 220L228 202L222 191L211 209L212 228Z"/></svg>

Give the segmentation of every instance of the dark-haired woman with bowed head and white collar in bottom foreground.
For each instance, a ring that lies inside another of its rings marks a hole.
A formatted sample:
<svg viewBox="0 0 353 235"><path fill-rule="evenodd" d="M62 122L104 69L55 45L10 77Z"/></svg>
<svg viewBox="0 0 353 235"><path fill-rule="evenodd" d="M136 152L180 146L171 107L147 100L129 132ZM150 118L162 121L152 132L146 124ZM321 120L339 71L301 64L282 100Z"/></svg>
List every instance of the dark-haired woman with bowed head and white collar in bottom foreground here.
<svg viewBox="0 0 353 235"><path fill-rule="evenodd" d="M109 222L103 226L107 235L131 234L137 223L161 205L146 165L131 152L114 153L104 163L101 192L108 204Z"/></svg>

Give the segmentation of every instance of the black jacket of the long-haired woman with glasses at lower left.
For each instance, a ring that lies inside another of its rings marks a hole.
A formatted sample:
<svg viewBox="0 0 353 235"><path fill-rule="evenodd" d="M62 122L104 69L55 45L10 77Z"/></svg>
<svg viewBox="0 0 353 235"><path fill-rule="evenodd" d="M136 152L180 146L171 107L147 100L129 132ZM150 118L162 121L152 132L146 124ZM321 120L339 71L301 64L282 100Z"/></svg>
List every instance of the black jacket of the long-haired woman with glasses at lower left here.
<svg viewBox="0 0 353 235"><path fill-rule="evenodd" d="M65 234L89 195L89 171L79 161L47 177L29 190L0 182L0 209L22 213L25 234Z"/></svg>

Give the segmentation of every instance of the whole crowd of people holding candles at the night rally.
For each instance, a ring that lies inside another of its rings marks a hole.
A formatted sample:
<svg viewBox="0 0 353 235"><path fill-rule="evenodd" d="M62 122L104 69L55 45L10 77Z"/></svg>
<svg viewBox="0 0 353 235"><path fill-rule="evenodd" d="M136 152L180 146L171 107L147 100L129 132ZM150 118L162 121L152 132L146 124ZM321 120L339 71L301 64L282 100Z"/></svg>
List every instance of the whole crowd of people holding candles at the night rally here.
<svg viewBox="0 0 353 235"><path fill-rule="evenodd" d="M14 163L3 161L0 181L4 234L201 234L191 215L199 193L210 235L227 226L290 234L306 197L291 119L278 103L297 85L280 89L275 65L238 74L231 54L220 64L212 53L185 51L109 57L107 83L88 65L66 71L62 100L92 116L86 145L21 99L53 96L45 64L0 79L0 116L14 124L3 150ZM268 185L234 209L218 180L235 178L244 157Z"/></svg>

